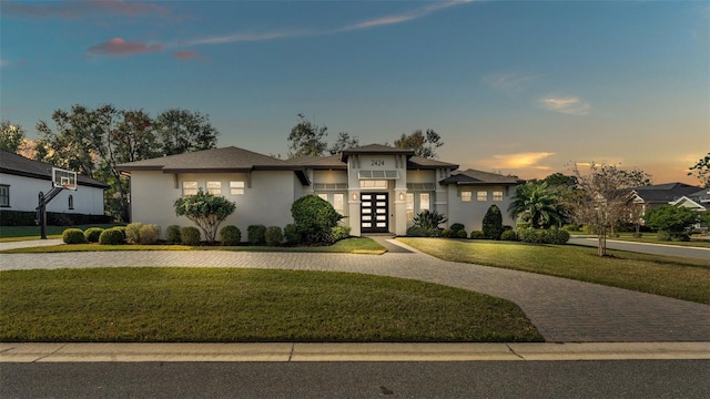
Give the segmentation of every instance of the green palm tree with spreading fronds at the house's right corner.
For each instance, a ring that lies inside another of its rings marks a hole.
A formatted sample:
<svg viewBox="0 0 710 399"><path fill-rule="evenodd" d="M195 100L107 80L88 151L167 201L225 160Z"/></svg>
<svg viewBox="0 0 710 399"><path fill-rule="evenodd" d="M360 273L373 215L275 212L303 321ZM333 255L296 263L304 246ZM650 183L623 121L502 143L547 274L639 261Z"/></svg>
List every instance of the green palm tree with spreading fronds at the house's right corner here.
<svg viewBox="0 0 710 399"><path fill-rule="evenodd" d="M546 182L527 182L518 186L508 213L514 219L529 221L534 228L549 227L562 221L559 193Z"/></svg>

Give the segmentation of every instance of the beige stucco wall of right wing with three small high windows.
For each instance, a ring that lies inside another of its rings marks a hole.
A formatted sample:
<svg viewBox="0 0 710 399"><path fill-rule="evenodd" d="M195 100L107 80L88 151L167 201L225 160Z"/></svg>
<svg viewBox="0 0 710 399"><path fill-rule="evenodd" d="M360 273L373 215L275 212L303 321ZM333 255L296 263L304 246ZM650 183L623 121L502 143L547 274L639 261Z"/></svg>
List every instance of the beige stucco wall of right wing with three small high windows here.
<svg viewBox="0 0 710 399"><path fill-rule="evenodd" d="M460 191L470 191L471 201L463 202L460 197ZM479 191L488 192L488 201L477 201L476 193ZM504 193L503 201L493 201L493 192L501 191ZM466 232L470 234L473 231L480 231L483 226L484 216L490 207L490 205L497 205L503 214L503 224L515 227L515 221L508 215L508 206L513 202L513 195L515 195L515 187L501 186L501 185L488 185L488 186L456 186L454 184L448 185L448 208L450 226L454 223L462 223L466 226Z"/></svg>

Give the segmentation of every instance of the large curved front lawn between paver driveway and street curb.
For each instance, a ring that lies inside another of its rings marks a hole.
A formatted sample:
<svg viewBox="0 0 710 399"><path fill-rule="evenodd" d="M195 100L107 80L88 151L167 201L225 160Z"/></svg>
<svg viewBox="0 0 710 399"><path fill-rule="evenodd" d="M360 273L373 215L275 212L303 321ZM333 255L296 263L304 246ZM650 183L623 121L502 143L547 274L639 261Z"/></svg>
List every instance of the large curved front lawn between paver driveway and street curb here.
<svg viewBox="0 0 710 399"><path fill-rule="evenodd" d="M513 303L348 273L0 273L0 341L540 341Z"/></svg>

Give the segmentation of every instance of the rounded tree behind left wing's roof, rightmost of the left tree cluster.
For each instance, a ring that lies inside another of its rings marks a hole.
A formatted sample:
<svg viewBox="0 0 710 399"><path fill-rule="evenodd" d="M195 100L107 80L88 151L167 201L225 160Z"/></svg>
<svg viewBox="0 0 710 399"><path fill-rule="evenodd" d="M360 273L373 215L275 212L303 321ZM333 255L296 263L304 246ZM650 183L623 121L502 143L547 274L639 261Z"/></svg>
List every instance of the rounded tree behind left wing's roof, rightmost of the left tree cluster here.
<svg viewBox="0 0 710 399"><path fill-rule="evenodd" d="M180 109L160 113L155 117L155 131L161 155L214 149L220 135L209 115Z"/></svg>

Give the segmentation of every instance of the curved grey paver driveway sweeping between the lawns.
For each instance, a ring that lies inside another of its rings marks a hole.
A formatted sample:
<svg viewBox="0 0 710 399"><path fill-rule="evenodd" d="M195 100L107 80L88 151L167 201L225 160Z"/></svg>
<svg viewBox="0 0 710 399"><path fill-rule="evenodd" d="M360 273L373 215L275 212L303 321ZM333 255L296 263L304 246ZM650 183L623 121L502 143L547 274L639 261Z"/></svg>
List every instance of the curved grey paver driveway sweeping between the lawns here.
<svg viewBox="0 0 710 399"><path fill-rule="evenodd" d="M445 262L414 248L407 249L410 253L385 255L223 250L0 254L0 270L214 266L355 272L438 283L510 299L523 308L545 339L552 342L710 341L710 305L525 272Z"/></svg>

